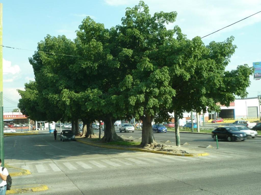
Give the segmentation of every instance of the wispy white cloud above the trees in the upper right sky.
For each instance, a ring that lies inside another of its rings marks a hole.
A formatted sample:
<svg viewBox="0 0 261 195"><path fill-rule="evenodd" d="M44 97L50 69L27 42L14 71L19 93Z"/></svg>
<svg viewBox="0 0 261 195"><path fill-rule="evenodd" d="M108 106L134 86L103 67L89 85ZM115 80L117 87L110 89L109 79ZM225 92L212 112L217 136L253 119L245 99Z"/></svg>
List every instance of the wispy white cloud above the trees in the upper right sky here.
<svg viewBox="0 0 261 195"><path fill-rule="evenodd" d="M133 5L139 3L139 1L133 0L104 1L106 4L111 6L125 5L126 7L133 7ZM167 25L167 28L170 29L175 25L179 25L182 32L186 34L189 39L195 36L203 37L207 34L213 33L216 30L226 27L261 10L261 1L258 0L150 0L145 1L145 3L149 6L151 14L159 11L176 11L176 22ZM213 39L220 37L224 32L239 30L243 27L259 23L260 21L261 13L218 31L207 38ZM224 37L224 40L226 38L227 37Z"/></svg>

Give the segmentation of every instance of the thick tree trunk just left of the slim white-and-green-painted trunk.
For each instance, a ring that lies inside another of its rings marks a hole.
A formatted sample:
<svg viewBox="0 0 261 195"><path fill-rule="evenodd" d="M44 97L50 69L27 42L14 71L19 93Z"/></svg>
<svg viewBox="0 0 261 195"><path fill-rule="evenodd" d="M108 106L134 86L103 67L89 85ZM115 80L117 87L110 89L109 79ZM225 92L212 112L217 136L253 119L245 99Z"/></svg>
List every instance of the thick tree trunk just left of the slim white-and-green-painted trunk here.
<svg viewBox="0 0 261 195"><path fill-rule="evenodd" d="M143 125L142 125L142 134L141 134L141 143L140 147L147 147L150 144L150 147L154 147L157 145L157 142L154 139L153 131L152 131L152 116L143 117Z"/></svg>

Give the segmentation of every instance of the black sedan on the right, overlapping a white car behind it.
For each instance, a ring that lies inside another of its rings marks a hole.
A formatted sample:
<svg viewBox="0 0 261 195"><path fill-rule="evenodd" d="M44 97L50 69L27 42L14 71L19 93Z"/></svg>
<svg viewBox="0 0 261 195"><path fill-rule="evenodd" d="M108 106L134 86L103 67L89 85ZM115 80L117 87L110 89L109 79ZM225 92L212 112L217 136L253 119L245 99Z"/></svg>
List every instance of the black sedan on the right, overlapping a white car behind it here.
<svg viewBox="0 0 261 195"><path fill-rule="evenodd" d="M212 138L217 139L225 139L228 141L242 140L246 139L246 133L239 131L235 127L218 127L214 131L212 131Z"/></svg>

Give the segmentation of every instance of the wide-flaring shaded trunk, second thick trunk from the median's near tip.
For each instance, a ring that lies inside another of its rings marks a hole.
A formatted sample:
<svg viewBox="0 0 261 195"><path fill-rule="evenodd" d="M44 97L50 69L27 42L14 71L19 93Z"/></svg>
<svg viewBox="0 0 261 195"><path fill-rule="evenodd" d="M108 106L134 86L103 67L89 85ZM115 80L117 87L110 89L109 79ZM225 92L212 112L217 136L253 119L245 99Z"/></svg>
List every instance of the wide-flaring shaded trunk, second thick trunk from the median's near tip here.
<svg viewBox="0 0 261 195"><path fill-rule="evenodd" d="M123 140L120 136L116 134L114 122L115 120L112 120L112 117L107 117L106 120L104 120L105 129L104 129L104 136L102 138L102 142Z"/></svg>

